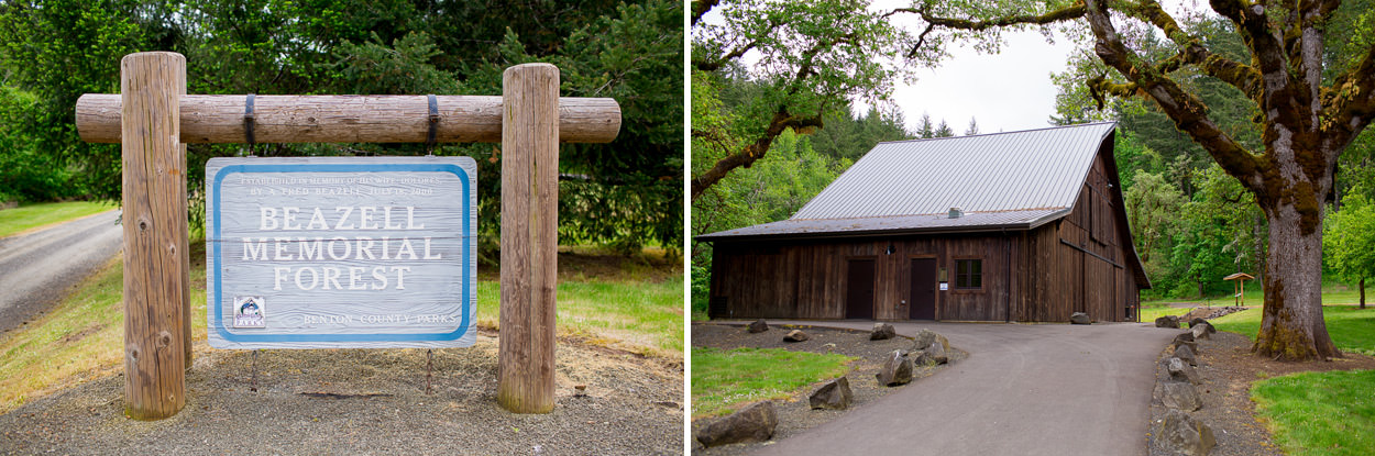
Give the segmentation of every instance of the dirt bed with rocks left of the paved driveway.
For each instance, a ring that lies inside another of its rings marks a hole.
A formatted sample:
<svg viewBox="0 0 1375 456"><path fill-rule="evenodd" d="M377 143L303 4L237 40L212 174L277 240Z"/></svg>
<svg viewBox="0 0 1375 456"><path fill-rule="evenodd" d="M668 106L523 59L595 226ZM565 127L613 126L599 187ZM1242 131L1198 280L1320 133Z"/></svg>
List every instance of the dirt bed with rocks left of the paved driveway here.
<svg viewBox="0 0 1375 456"><path fill-rule="evenodd" d="M788 330L803 330L811 338L804 342L784 342L782 337L784 334L788 334ZM850 404L851 411L887 394L892 394L899 389L910 387L912 385L918 383L921 378L931 376L945 367L920 367L913 372L913 376L916 376L913 383L894 387L881 386L874 378L874 374L879 372L886 356L892 353L892 350L910 352L913 349L912 338L899 335L887 341L869 341L869 331L833 330L811 326L770 326L769 331L751 334L742 326L693 323L692 345L722 350L759 347L811 353L840 353L857 357L858 360L851 364L852 369L846 375L850 379L850 389L854 393L854 400ZM968 357L968 353L952 347L949 356L950 363L958 363L960 360ZM774 430L774 441L780 441L817 427L818 424L840 418L840 415L848 412L811 409L807 404L807 394L811 394L817 386L821 386L821 383L811 385L788 400L774 401L778 411L778 427ZM716 418L694 419L692 422L693 435L697 434L698 427L705 426L715 419ZM693 440L692 452L693 455L740 455L769 444L770 442L736 444L704 449L700 442Z"/></svg>

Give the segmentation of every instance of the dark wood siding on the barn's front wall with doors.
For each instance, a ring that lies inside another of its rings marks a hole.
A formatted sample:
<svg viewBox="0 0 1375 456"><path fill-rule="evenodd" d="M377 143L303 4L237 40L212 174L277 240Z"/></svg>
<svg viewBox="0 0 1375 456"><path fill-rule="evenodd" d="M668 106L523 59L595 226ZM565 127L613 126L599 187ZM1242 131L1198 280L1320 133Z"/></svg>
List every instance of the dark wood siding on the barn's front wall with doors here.
<svg viewBox="0 0 1375 456"><path fill-rule="evenodd" d="M848 260L874 260L874 319L906 320L913 258L935 258L949 291L936 291L939 320L1006 320L1011 301L1008 258L1016 235L874 238L825 242L719 243L714 250L712 299L738 319L844 319ZM894 253L887 253L892 246ZM983 260L979 290L954 288L954 261Z"/></svg>

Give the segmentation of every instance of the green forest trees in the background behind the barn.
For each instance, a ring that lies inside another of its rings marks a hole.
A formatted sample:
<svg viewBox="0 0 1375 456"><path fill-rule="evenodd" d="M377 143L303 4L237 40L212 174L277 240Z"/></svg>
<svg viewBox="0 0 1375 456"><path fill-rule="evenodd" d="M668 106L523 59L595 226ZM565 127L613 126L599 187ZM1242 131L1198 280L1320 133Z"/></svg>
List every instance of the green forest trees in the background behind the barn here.
<svg viewBox="0 0 1375 456"><path fill-rule="evenodd" d="M1342 62L1358 58L1357 51L1368 45L1370 37L1342 37L1356 33L1352 23L1364 22L1348 18L1336 23L1346 27L1332 27L1331 32L1336 33L1331 34L1331 41L1342 45L1330 47L1328 59ZM1214 52L1248 59L1246 45L1239 36L1229 33L1226 19L1199 19L1188 22L1187 27L1188 33L1204 37ZM869 40L880 44L903 41L899 32L886 29L881 23L858 21L850 25L840 22L835 30L817 34L828 36L826 33L851 37L868 33ZM1141 48L1156 49L1160 55L1170 52L1163 37L1141 34L1138 38L1143 43L1136 45ZM881 73L883 78L910 77L902 67L877 62L883 56L872 51L877 44L865 41L866 45L857 45L861 52L869 49L868 56L857 54L835 58L852 65L848 74L799 78L784 71L747 71L738 56L726 52L729 48L712 48L719 44L697 36L694 40L693 176L705 173L714 162L736 150L748 150L751 139L767 135L760 133L760 129L763 125L773 126L767 122L774 114L770 109L788 106L800 111L796 106L804 104L811 109L807 113L825 114L814 125L795 122L784 128L766 148L767 158L730 170L694 198L692 235L788 218L876 143L936 136L934 133L938 129L928 119L918 122L921 126L916 130L906 130L905 121L895 109L896 100L886 96L886 82L881 78L861 77L864 71ZM826 51L844 52L833 48ZM704 58L698 58L697 52ZM715 55L725 58L712 60ZM1099 104L1084 84L1104 71L1103 63L1090 55L1078 54L1071 58L1064 73L1053 76L1060 91L1056 98L1057 113L1046 119L1046 125L1118 122L1115 158L1122 195L1136 250L1152 284L1151 290L1143 291L1143 298L1218 298L1233 291L1232 283L1222 282L1221 277L1233 272L1260 277L1265 269L1269 227L1254 195L1226 174L1194 139L1176 129L1174 122L1155 102L1119 98ZM864 63L864 58L876 62ZM826 80L828 77L832 80ZM1188 89L1207 103L1210 115L1228 135L1247 147L1260 147L1260 113L1250 99L1236 88L1204 74L1194 74L1187 81ZM828 82L844 88L806 95L798 95L806 89L795 89L799 84L811 84L820 87L820 91ZM869 102L877 109L852 113L854 100ZM920 100L902 103L920 106ZM778 115L773 118L778 119ZM971 125L971 130L978 132L978 128ZM946 128L945 133L954 132ZM1357 136L1341 155L1335 191L1328 196L1323 224L1324 282L1361 287L1365 277L1375 276L1372 155L1375 133L1370 129ZM694 309L704 310L711 244L693 242L692 250L693 305Z"/></svg>

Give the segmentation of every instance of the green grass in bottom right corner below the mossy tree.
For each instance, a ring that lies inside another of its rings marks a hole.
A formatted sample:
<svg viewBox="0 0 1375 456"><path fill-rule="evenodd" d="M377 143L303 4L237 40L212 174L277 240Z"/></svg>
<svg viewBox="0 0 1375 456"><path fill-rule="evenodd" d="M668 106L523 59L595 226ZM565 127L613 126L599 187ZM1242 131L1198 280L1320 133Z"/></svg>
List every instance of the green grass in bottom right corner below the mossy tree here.
<svg viewBox="0 0 1375 456"><path fill-rule="evenodd" d="M1375 371L1261 380L1251 386L1251 400L1286 455L1375 452Z"/></svg>

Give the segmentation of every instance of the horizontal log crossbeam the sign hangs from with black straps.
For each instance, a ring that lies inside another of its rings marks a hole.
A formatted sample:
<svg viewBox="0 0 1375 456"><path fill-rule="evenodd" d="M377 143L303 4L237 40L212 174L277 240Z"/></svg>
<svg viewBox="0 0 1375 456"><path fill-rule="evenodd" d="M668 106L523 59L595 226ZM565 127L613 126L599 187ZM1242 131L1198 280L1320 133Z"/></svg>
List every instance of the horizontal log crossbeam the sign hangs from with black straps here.
<svg viewBox="0 0 1375 456"><path fill-rule="evenodd" d="M502 139L500 96L437 96L440 143ZM120 141L120 95L77 100L77 133L88 143ZM243 95L188 95L180 103L183 143L245 143ZM620 106L609 98L557 102L560 141L609 143L620 132ZM258 95L253 102L258 143L424 143L429 103L424 95Z"/></svg>

